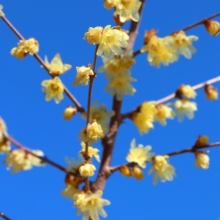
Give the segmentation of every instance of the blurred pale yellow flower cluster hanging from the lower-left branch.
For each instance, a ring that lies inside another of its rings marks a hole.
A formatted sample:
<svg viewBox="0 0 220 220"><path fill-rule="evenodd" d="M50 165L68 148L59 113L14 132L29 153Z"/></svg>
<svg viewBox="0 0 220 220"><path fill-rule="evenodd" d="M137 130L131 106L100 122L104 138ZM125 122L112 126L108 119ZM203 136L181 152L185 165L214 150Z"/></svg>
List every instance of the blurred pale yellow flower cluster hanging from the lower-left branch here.
<svg viewBox="0 0 220 220"><path fill-rule="evenodd" d="M43 152L40 150L32 150L32 152L38 156L43 156ZM7 154L5 162L8 164L7 169L12 167L12 173L17 173L21 170L30 170L32 166L42 166L42 160L35 157L22 149L13 150Z"/></svg>

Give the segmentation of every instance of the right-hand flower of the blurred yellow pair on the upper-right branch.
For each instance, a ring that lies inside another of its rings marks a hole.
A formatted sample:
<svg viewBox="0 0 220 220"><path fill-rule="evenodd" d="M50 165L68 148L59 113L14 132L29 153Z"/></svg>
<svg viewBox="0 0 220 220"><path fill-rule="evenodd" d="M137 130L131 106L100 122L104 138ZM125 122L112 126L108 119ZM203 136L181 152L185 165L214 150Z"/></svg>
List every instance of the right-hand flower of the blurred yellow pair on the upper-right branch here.
<svg viewBox="0 0 220 220"><path fill-rule="evenodd" d="M191 59L192 54L196 52L192 42L197 41L199 38L194 35L186 36L184 31L175 33L171 37L177 55L182 54L184 57Z"/></svg>

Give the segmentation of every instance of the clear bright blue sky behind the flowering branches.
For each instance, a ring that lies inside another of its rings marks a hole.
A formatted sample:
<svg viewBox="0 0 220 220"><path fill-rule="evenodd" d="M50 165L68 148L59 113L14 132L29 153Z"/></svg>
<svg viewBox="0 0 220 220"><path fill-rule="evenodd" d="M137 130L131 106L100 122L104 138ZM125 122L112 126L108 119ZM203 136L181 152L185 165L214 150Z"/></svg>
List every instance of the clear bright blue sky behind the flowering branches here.
<svg viewBox="0 0 220 220"><path fill-rule="evenodd" d="M65 63L73 68L62 80L83 106L87 102L88 87L73 87L75 67L93 60L94 46L83 40L89 27L114 25L113 11L107 11L102 1L30 1L3 0L4 12L25 38L35 37L40 44L39 55L49 60L59 52ZM220 11L219 0L201 1L147 1L141 21L135 50L143 44L145 30L155 28L159 36L166 36L189 24ZM217 18L220 21L220 18ZM128 26L127 26L128 27ZM183 57L168 67L149 66L146 54L136 58L132 76L137 92L127 96L122 111L132 110L146 100L157 100L174 92L182 83L195 85L220 75L220 37L213 38L203 26L187 32L196 35L197 53L191 60ZM52 160L65 166L64 157L77 157L80 149L79 129L85 121L79 115L63 121L62 112L70 101L59 105L46 102L41 81L48 79L39 63L27 56L22 61L10 55L17 45L17 37L0 21L0 115L6 121L9 133L31 149L41 149ZM101 66L99 58L97 66ZM108 108L112 97L104 93L106 79L99 74L94 82L92 100L100 100ZM215 85L220 89L220 84ZM207 101L203 90L196 98L198 111L193 120L179 123L170 120L166 127L159 124L148 134L140 136L137 128L127 120L120 128L112 165L125 163L132 138L137 143L151 145L153 152L164 154L190 147L199 134L208 135L210 142L220 141L220 104ZM100 143L96 144L101 150ZM106 207L109 220L113 219L169 219L217 220L220 218L220 148L210 150L210 168L196 169L194 155L172 157L177 177L172 182L152 184L152 176L138 182L115 173L105 188L104 198L111 201ZM0 159L3 160L3 156ZM96 164L97 165L97 164ZM71 220L75 216L71 201L60 195L65 187L64 174L47 165L12 175L6 166L0 166L0 211L13 220Z"/></svg>

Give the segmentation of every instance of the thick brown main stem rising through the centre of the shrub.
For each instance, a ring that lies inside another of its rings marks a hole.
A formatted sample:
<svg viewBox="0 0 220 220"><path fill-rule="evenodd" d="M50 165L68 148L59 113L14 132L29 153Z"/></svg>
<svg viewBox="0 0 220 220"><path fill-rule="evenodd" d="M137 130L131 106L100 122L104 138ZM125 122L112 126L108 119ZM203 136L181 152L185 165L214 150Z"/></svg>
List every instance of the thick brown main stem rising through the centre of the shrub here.
<svg viewBox="0 0 220 220"><path fill-rule="evenodd" d="M132 50L132 48L134 47L145 0L141 0L141 2L142 5L139 10L140 19L139 22L134 22L134 21L131 22L130 30L129 30L129 41L128 41L128 46L125 49L125 54L128 53L130 50ZM116 99L116 96L114 96L112 110L114 110L115 115L111 118L109 133L102 139L102 145L104 148L102 154L102 161L101 161L98 177L94 183L91 183L92 191L96 191L98 189L103 190L106 184L106 179L110 175L109 166L113 154L114 142L116 139L118 128L122 122L121 106L122 106L122 101L118 101Z"/></svg>

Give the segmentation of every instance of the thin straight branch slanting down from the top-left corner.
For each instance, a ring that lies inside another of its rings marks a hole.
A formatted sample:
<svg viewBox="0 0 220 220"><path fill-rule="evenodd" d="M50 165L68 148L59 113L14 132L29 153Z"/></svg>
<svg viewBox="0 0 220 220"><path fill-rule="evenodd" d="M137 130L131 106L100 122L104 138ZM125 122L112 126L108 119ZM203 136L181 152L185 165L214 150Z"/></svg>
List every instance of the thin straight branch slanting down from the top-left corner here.
<svg viewBox="0 0 220 220"><path fill-rule="evenodd" d="M0 16L2 20L6 23L6 25L14 32L14 34L20 39L20 40L25 40L25 38L19 33L19 31L11 24L11 22L5 17L5 16ZM41 59L41 57L38 54L33 55L34 58L44 67L44 69L49 73L49 69L47 68L46 64L44 61ZM53 76L50 75L52 78ZM67 97L74 103L74 105L77 108L78 112L84 112L83 107L81 104L78 102L78 100L71 94L71 92L65 87L64 85L64 92L67 95Z"/></svg>

